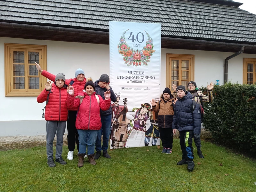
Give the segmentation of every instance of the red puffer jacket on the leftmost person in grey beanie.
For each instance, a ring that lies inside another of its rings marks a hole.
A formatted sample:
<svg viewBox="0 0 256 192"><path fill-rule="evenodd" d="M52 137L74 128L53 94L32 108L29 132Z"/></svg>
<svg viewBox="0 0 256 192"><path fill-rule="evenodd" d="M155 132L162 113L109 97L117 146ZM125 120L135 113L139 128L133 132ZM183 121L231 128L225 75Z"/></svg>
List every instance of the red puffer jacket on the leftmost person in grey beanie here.
<svg viewBox="0 0 256 192"><path fill-rule="evenodd" d="M43 103L47 100L49 91L42 91L37 97L38 103ZM49 95L48 104L45 107L44 118L46 121L67 121L68 119L68 107L67 107L67 85L59 88L52 84L52 90Z"/></svg>

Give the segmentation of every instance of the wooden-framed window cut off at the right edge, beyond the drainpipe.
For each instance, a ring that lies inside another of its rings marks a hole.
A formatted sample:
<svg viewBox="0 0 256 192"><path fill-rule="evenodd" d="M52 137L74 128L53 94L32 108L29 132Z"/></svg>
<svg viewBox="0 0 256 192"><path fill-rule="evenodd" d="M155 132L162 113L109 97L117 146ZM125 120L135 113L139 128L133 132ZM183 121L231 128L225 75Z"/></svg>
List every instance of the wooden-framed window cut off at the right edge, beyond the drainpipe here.
<svg viewBox="0 0 256 192"><path fill-rule="evenodd" d="M256 59L244 58L243 60L243 84L255 84Z"/></svg>

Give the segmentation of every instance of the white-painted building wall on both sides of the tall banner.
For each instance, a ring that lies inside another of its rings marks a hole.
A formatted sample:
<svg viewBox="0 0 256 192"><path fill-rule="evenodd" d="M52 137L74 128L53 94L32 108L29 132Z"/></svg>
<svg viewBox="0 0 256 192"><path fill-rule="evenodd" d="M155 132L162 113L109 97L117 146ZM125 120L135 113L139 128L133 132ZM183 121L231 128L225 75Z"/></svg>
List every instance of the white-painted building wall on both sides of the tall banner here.
<svg viewBox="0 0 256 192"><path fill-rule="evenodd" d="M44 41L0 37L0 121L42 120L42 108L36 97L5 97L4 93L4 43L47 45L47 71L64 73L66 78L74 78L77 68L82 68L85 77L99 79L103 73L109 74L109 45ZM195 55L195 81L200 87L206 82L220 84L224 81L224 60L232 53L194 50L161 50L161 90L165 88L166 53ZM241 54L228 64L228 79L242 83L243 57L256 58L256 55ZM111 81L111 80L110 80Z"/></svg>

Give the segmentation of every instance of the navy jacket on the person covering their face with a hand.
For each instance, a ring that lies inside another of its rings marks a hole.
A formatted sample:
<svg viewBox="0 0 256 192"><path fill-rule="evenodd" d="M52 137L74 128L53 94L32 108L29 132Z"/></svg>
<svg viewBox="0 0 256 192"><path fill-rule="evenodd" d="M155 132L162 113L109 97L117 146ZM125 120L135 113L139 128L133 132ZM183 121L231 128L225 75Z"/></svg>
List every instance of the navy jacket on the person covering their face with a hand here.
<svg viewBox="0 0 256 192"><path fill-rule="evenodd" d="M104 92L106 91L110 91L110 99L111 101L115 102L116 101L116 95L115 93L113 92L112 88L110 87L109 90L107 90L106 88L101 88L98 84L100 83L100 80L97 80L94 82L94 85L95 85L95 92L97 95L100 95L102 97L102 99L105 100L105 95L104 95ZM103 115L103 116L107 116L107 115L110 115L112 114L112 108L111 108L111 105L109 107L109 109L107 111L102 111L100 109L100 115Z"/></svg>

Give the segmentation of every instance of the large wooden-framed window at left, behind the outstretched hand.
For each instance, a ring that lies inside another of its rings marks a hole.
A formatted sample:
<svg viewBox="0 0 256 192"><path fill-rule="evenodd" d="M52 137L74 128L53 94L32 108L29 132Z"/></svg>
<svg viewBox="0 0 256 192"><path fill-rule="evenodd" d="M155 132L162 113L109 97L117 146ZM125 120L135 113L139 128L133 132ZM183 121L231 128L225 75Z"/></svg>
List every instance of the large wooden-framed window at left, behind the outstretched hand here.
<svg viewBox="0 0 256 192"><path fill-rule="evenodd" d="M35 62L46 69L46 45L4 44L5 96L38 96L46 78Z"/></svg>

